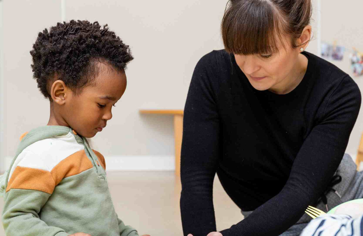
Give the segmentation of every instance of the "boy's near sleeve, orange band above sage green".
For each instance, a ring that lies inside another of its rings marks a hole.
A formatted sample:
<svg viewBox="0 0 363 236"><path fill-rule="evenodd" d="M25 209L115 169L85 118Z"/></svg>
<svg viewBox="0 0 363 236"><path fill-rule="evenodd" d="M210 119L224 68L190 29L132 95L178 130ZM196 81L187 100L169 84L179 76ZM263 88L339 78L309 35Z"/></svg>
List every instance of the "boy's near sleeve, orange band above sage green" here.
<svg viewBox="0 0 363 236"><path fill-rule="evenodd" d="M55 185L49 171L20 166L15 168L6 188L2 215L7 236L69 235L61 228L48 226L39 217L40 210L53 193Z"/></svg>

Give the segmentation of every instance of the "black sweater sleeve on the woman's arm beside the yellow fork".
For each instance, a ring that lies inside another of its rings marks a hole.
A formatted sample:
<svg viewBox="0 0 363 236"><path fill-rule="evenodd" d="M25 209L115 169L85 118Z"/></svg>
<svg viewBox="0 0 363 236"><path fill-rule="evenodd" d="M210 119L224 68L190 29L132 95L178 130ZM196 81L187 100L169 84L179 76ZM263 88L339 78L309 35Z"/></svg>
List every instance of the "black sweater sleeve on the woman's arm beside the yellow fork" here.
<svg viewBox="0 0 363 236"><path fill-rule="evenodd" d="M303 142L281 192L246 219L221 231L223 236L280 235L317 201L342 160L361 95L356 83L346 76L328 99L322 119Z"/></svg>

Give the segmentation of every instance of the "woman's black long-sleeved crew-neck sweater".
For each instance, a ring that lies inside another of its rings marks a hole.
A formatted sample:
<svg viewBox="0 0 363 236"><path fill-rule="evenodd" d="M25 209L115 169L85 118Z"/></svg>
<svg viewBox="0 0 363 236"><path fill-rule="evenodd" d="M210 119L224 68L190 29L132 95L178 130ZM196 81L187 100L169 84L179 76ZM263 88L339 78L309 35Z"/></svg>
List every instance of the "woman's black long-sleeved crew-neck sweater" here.
<svg viewBox="0 0 363 236"><path fill-rule="evenodd" d="M215 173L243 211L223 236L280 235L317 202L337 170L360 109L350 76L309 59L290 93L258 91L233 54L212 51L197 63L184 109L180 198L184 235L216 231Z"/></svg>

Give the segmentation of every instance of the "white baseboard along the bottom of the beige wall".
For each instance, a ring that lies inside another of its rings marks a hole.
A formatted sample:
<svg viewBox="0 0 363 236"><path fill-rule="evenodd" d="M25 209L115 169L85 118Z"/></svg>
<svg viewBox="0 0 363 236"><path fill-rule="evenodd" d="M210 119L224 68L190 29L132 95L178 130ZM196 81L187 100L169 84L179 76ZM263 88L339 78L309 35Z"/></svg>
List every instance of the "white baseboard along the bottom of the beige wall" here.
<svg viewBox="0 0 363 236"><path fill-rule="evenodd" d="M6 171L13 157L7 156L0 172ZM105 156L107 171L174 171L175 158L172 155Z"/></svg>

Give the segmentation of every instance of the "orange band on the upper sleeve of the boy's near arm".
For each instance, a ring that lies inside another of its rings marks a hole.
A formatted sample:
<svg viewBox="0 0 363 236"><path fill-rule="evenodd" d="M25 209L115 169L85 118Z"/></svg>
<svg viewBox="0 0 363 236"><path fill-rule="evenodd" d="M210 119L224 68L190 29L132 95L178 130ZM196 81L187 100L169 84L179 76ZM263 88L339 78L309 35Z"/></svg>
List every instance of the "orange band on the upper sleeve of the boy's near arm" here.
<svg viewBox="0 0 363 236"><path fill-rule="evenodd" d="M32 189L52 194L55 186L49 171L17 166L8 182L6 192L10 189Z"/></svg>

